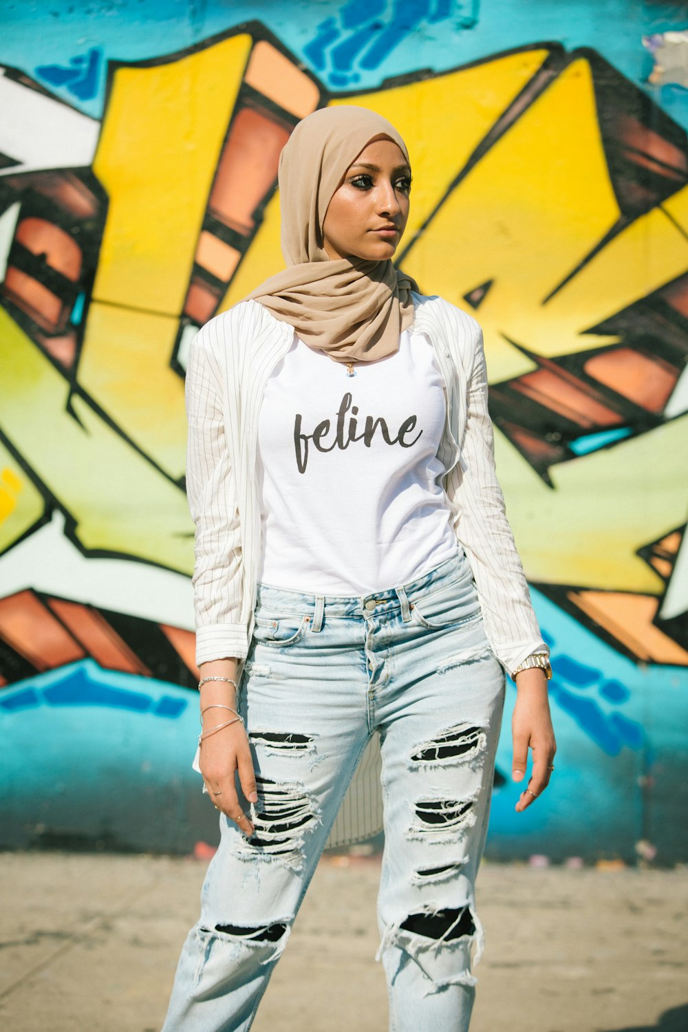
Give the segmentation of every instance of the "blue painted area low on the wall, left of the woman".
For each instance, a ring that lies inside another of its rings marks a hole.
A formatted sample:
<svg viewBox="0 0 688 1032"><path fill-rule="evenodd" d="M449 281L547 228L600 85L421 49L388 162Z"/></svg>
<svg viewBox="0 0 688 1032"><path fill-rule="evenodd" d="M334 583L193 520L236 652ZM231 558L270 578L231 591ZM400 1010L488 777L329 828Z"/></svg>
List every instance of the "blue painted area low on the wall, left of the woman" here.
<svg viewBox="0 0 688 1032"><path fill-rule="evenodd" d="M105 834L114 847L188 851L199 839L214 841L216 811L208 819L198 805L202 779L192 769L197 694L93 660L83 666L94 690L130 688L150 705L48 705L43 688L67 680L76 665L66 676L36 675L31 687L1 688L0 842L35 844L45 832L95 843ZM29 695L33 708L25 705ZM12 698L23 706L3 705Z"/></svg>

